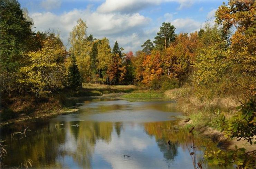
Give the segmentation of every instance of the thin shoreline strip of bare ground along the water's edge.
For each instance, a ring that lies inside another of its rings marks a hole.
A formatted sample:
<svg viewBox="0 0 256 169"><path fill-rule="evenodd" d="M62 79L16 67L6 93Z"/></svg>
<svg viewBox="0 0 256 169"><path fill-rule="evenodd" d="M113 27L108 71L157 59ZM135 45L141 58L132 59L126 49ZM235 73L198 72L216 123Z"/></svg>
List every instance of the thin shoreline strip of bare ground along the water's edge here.
<svg viewBox="0 0 256 169"><path fill-rule="evenodd" d="M123 100L127 100L127 101L131 101L129 98L125 98L123 97L125 94L127 93L109 93L109 94L102 94L101 96L85 96L85 97L70 97L73 100L79 100L79 99L123 99ZM129 93L130 94L130 93ZM129 95L128 94L128 95ZM136 94L136 93L135 93ZM70 99L69 98L69 99ZM153 98L151 99L138 99L138 98L133 98L132 101L152 101ZM155 99L155 98L154 98ZM159 100L159 99L156 99ZM177 103L177 105L181 104L182 102L182 98L176 98L176 99L171 99L171 98L164 98L164 100L172 100L175 101ZM16 123L16 122L21 122L21 121L26 121L26 120L35 120L35 119L40 119L40 118L51 118L57 115L61 115L61 114L70 114L70 113L75 113L78 112L79 109L77 108L79 105L75 105L69 108L61 108L60 110L50 110L48 112L35 112L33 114L29 114L29 115L23 115L23 116L18 116L15 119L10 119L4 122L0 122L0 127L3 127L5 125L9 125L12 123ZM179 108L178 108L179 109ZM189 115L186 112L180 110L182 113ZM193 124L193 120L190 120L188 123L184 122L184 118L182 120L179 120L177 118L178 122L178 126L180 128L191 128L192 126L195 126L195 131L197 131L196 134L200 134L205 138L210 138L212 141L216 142L217 147L219 147L220 149L235 149L235 145L238 146L238 148L245 148L246 151L251 151L254 150L256 148L256 145L250 145L246 140L240 140L240 141L236 141L236 139L230 139L227 136L225 136L225 133L220 132L217 129L211 128L209 127L205 122L199 124Z"/></svg>

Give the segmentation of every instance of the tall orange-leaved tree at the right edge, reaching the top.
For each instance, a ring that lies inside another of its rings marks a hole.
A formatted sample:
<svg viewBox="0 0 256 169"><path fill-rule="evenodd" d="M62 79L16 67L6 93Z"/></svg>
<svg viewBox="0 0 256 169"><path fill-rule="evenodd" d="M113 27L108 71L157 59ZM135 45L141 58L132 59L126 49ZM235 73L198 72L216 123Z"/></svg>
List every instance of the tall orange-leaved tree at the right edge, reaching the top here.
<svg viewBox="0 0 256 169"><path fill-rule="evenodd" d="M256 95L256 1L229 0L216 11L216 22L223 25L227 34L232 27L236 28L231 36L230 50L227 59L231 62L230 88L244 97Z"/></svg>

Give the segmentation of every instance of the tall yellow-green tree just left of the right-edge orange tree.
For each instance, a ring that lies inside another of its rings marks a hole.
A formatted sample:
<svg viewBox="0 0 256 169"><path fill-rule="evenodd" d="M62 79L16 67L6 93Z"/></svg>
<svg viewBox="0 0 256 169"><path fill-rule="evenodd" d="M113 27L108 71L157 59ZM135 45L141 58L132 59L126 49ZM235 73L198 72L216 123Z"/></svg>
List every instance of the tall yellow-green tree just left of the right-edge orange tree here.
<svg viewBox="0 0 256 169"><path fill-rule="evenodd" d="M196 56L196 71L194 82L200 96L210 96L224 94L223 83L229 70L230 62L227 60L227 40L222 36L222 30L215 24L205 25L205 33L200 38L202 46ZM227 92L227 91L226 91Z"/></svg>

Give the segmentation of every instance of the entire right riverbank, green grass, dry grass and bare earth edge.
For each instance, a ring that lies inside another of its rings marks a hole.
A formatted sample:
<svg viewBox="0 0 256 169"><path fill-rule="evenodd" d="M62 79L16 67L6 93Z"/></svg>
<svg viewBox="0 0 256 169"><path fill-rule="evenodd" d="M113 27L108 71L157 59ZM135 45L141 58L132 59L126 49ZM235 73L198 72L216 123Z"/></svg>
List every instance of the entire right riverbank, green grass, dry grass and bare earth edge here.
<svg viewBox="0 0 256 169"><path fill-rule="evenodd" d="M241 103L236 97L215 97L211 99L202 99L193 96L190 88L177 88L167 90L165 92L158 91L134 91L125 94L122 98L129 101L150 101L150 100L175 100L178 104L177 108L183 112L187 118L179 122L181 128L191 129L197 134L210 138L216 142L222 149L245 148L246 151L256 149L255 145L250 145L247 140L231 139L229 136L221 132L222 119L231 118L237 112L237 106ZM188 121L185 123L185 121Z"/></svg>

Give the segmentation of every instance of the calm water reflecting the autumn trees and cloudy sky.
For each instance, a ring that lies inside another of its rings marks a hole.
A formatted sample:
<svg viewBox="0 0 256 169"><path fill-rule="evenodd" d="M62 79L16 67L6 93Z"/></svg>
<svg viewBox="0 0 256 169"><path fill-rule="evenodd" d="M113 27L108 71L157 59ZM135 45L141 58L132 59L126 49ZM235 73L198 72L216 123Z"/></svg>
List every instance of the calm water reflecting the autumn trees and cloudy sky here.
<svg viewBox="0 0 256 169"><path fill-rule="evenodd" d="M182 114L174 102L96 99L81 101L79 109L1 128L8 151L3 163L8 168L26 159L33 161L33 168L193 168L192 137L187 130L177 130ZM31 130L26 138L11 138L10 133L26 126ZM209 140L194 140L197 160L206 147L215 147Z"/></svg>

